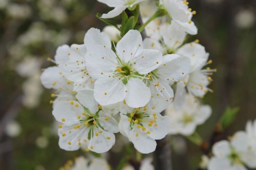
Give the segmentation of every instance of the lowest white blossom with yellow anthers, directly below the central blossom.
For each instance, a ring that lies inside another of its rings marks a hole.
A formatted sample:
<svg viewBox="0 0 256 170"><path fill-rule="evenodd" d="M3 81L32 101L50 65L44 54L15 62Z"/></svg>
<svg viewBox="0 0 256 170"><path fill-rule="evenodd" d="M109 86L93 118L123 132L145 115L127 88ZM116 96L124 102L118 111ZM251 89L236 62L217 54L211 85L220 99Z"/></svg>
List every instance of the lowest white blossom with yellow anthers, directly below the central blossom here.
<svg viewBox="0 0 256 170"><path fill-rule="evenodd" d="M146 107L134 109L133 112L121 114L119 131L133 142L136 150L143 154L154 152L156 141L164 138L170 129L167 116L151 112Z"/></svg>

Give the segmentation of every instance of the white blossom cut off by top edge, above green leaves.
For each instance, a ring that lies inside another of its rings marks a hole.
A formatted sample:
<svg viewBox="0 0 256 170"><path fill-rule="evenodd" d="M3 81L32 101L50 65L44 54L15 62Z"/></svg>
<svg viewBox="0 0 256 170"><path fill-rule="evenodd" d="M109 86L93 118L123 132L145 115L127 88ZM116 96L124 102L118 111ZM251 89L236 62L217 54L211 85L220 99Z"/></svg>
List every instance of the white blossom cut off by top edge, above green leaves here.
<svg viewBox="0 0 256 170"><path fill-rule="evenodd" d="M126 8L132 8L136 4L139 4L146 0L98 0L100 3L104 3L114 9L107 14L103 14L102 18L113 18L121 14Z"/></svg>

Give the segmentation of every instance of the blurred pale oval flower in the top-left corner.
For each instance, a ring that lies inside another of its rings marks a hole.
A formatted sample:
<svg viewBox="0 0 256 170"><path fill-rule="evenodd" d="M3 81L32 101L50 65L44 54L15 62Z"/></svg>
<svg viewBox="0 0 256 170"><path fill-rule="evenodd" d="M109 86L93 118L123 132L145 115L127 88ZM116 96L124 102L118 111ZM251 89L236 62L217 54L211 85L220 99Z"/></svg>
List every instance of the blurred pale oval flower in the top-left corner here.
<svg viewBox="0 0 256 170"><path fill-rule="evenodd" d="M30 6L26 4L8 4L6 10L8 15L17 19L25 19L32 14Z"/></svg>

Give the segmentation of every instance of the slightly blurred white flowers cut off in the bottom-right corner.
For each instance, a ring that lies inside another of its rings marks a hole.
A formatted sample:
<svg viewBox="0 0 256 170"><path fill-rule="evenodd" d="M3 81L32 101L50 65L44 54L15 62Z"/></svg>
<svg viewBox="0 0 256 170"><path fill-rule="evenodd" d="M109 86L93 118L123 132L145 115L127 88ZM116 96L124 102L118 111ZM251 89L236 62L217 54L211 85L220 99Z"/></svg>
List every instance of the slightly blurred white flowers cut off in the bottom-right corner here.
<svg viewBox="0 0 256 170"><path fill-rule="evenodd" d="M246 131L235 133L230 141L215 143L212 152L214 156L209 160L209 170L256 168L256 120L249 121Z"/></svg>

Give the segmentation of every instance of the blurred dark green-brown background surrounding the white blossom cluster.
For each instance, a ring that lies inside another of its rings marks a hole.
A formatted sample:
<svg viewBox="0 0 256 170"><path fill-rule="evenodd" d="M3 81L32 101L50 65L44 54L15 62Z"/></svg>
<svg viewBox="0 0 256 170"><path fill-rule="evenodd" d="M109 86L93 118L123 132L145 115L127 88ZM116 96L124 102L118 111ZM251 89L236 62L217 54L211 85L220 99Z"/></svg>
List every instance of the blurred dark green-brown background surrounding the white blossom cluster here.
<svg viewBox="0 0 256 170"><path fill-rule="evenodd" d="M198 128L207 141L226 107L239 107L223 138L244 130L256 118L256 1L194 0L199 39L218 69L205 104L213 113ZM141 5L143 6L143 5ZM103 29L96 13L109 10L87 0L0 0L0 169L58 169L84 154L58 147L51 91L40 84L57 46L83 43L86 31ZM118 18L117 18L118 19ZM123 157L119 138L109 154L116 166ZM174 169L196 169L202 152L181 136L172 140ZM193 157L191 156L193 155Z"/></svg>

